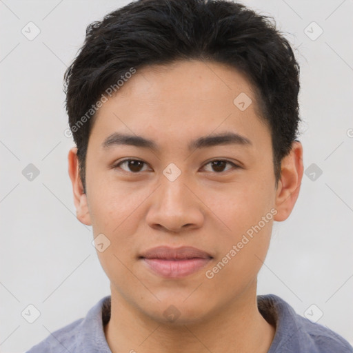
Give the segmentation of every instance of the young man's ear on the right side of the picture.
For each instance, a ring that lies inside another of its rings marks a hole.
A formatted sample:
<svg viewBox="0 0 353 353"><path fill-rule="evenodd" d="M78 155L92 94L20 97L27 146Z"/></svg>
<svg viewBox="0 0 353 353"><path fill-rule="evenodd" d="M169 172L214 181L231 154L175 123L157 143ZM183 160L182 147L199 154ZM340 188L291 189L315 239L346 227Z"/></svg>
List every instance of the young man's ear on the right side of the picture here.
<svg viewBox="0 0 353 353"><path fill-rule="evenodd" d="M284 221L291 214L301 188L303 178L303 147L299 141L292 143L290 154L281 161L281 178L276 190L274 221Z"/></svg>

